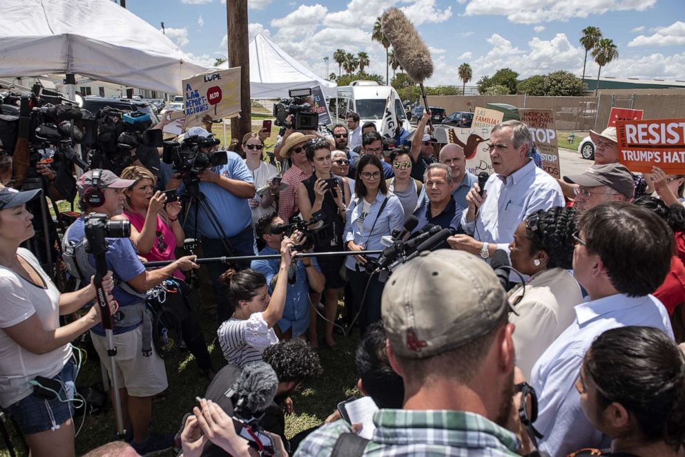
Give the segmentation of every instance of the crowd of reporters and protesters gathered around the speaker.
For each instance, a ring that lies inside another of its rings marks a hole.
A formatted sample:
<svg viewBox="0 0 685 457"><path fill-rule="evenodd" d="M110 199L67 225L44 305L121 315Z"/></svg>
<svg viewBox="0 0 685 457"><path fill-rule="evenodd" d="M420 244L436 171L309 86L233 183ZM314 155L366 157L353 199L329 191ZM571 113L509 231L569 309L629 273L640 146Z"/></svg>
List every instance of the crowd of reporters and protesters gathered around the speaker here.
<svg viewBox="0 0 685 457"><path fill-rule="evenodd" d="M633 175L606 128L591 132L595 164L554 179L531 158L528 126L505 121L486 140L493 173L481 188L463 148L436 144L429 119L413 137L401 127L383 137L356 113L317 131L287 126L271 157L262 129L224 164L190 175L139 161L118 175L87 171L77 177L81 217L62 241L77 253L74 292L60 293L21 247L34 235L27 204L41 191L1 188L0 406L32 454L75 454L70 342L86 331L99 358L114 359L104 367L119 387L122 438L140 455L174 445L151 424L168 379L149 344L146 303L164 290L175 292L164 309L211 381L180 431L189 457L255 453L230 415L244 408L235 383L256 364L275 380L262 427L280 455L681 456L685 177ZM189 129L181 147L212 139L208 127ZM195 153L215 149L202 143ZM167 201L173 190L185 208ZM107 239L115 355L99 307L59 323L96 298L84 244L94 213L131 224L130 237ZM376 261L387 239L435 226L451 235L383 278ZM197 255L251 260L200 268ZM206 284L206 309L215 304L226 367L213 366L186 300L188 275ZM288 438L290 395L319 376L321 344L336 351L336 327L358 328L358 390L379 408L375 429L361 438L340 413Z"/></svg>

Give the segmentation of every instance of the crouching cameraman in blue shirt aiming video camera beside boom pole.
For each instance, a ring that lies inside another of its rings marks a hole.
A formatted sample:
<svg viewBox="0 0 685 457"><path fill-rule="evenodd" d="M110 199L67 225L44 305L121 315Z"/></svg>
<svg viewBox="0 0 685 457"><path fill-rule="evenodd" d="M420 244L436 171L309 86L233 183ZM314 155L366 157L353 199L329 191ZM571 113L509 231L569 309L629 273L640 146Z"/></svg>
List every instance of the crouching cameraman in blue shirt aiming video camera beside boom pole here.
<svg viewBox="0 0 685 457"><path fill-rule="evenodd" d="M255 224L255 231L260 240L267 246L259 251L258 255L280 254L280 244L284 233L271 233L271 228L283 225L283 220L277 213L265 214ZM324 289L324 278L315 257L309 257L296 264L295 282L288 284L288 291L283 309L283 317L276 322L278 334L282 338L297 338L307 331L309 327L309 289L321 293ZM253 260L250 267L267 277L269 293L276 284L276 275L280 265L280 259Z"/></svg>

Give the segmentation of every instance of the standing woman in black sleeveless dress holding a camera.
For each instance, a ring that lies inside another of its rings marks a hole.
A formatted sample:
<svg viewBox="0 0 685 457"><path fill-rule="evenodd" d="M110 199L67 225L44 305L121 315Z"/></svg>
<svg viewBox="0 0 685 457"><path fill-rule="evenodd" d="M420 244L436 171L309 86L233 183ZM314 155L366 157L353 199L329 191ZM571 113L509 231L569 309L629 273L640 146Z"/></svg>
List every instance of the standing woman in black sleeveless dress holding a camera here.
<svg viewBox="0 0 685 457"><path fill-rule="evenodd" d="M302 181L298 188L298 205L305 220L310 220L313 213L324 215L325 228L316 233L314 252L343 251L343 231L345 230L345 211L349 202L349 187L342 177L331 173L331 144L322 138L311 139L306 144L307 160L313 167L314 173ZM343 267L345 257L321 257L318 264L326 278L324 291L325 335L324 342L329 349L336 346L333 338L333 323L338 309L338 293L345 286L340 278L340 268ZM311 302L318 304L320 293L311 294ZM311 347L318 347L316 331L316 307L309 308L309 343Z"/></svg>

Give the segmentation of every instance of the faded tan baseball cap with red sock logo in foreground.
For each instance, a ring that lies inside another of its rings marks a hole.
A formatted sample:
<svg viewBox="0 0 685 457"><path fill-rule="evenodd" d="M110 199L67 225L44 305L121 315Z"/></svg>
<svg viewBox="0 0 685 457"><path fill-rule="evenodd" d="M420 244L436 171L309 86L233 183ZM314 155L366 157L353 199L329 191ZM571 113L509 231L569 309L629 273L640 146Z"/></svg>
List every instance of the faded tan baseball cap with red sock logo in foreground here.
<svg viewBox="0 0 685 457"><path fill-rule="evenodd" d="M392 350L404 358L436 356L477 340L509 308L490 266L454 249L421 253L396 269L380 306Z"/></svg>

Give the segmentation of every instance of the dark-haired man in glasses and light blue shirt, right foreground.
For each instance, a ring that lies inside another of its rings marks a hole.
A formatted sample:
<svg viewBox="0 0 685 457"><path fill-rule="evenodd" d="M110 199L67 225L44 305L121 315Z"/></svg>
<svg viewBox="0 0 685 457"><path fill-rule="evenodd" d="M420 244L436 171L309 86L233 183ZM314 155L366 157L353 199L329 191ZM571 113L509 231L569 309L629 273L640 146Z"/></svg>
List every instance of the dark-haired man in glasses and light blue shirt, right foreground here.
<svg viewBox="0 0 685 457"><path fill-rule="evenodd" d="M673 338L666 308L651 295L670 269L674 241L666 223L637 205L609 202L586 211L578 229L573 275L588 291L589 301L575 306L575 321L531 372L538 396L535 428L544 436L541 450L551 456L610 443L586 419L575 386L583 357L597 336L641 325Z"/></svg>

